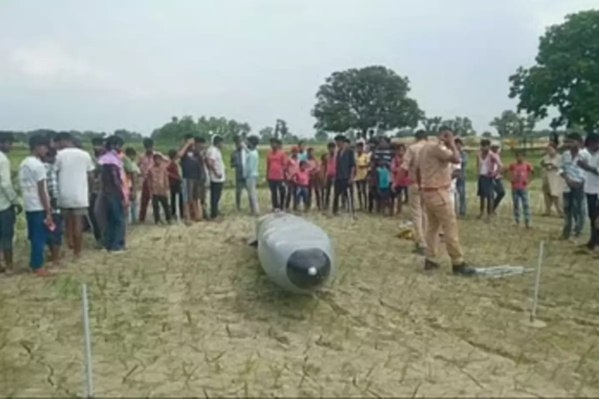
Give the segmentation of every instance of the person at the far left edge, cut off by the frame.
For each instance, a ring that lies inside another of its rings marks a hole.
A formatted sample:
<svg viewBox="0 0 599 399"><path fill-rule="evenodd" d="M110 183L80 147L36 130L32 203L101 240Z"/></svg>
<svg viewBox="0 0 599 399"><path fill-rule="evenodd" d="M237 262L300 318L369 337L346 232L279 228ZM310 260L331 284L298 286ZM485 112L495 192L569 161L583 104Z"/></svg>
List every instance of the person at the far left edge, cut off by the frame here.
<svg viewBox="0 0 599 399"><path fill-rule="evenodd" d="M4 258L4 267L0 273L7 275L13 273L13 237L14 222L23 208L19 204L19 197L13 188L11 179L10 160L6 154L10 153L13 145L13 133L0 132L0 251Z"/></svg>

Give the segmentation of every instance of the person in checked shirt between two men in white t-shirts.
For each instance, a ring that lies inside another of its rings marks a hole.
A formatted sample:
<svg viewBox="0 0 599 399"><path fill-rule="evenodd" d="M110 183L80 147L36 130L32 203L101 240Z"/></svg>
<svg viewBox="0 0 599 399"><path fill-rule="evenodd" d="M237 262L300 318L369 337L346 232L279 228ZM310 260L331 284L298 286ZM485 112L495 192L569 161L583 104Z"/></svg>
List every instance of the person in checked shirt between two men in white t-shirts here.
<svg viewBox="0 0 599 399"><path fill-rule="evenodd" d="M50 261L56 267L60 263L60 245L62 245L62 218L58 208L58 173L56 170L56 149L49 148L44 157L46 167L46 182L50 206L52 207L52 220L54 229L46 226L46 243L50 249Z"/></svg>

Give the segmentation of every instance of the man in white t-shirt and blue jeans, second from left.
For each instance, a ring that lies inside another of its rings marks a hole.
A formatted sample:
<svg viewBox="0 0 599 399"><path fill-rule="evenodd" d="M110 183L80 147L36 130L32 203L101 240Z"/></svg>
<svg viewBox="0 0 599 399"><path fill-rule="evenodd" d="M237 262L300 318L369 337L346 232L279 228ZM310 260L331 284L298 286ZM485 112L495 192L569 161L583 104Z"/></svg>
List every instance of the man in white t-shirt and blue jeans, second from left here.
<svg viewBox="0 0 599 399"><path fill-rule="evenodd" d="M44 136L29 139L31 153L19 165L19 184L25 204L27 236L29 238L29 268L36 276L53 273L44 267L44 247L46 230L52 229L52 206L46 188L46 167L41 162L48 151L48 141Z"/></svg>

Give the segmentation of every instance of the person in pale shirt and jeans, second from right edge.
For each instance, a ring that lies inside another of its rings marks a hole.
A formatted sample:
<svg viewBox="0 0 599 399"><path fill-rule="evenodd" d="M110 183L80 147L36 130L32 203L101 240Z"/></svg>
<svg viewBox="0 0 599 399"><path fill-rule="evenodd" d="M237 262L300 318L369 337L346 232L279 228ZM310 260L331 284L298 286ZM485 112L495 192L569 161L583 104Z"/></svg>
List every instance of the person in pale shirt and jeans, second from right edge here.
<svg viewBox="0 0 599 399"><path fill-rule="evenodd" d="M561 156L561 169L559 176L564 178L564 230L561 239L567 240L574 229L574 237L579 237L585 224L583 202L585 171L579 166L582 160L580 146L582 137L578 133L569 133L565 137L565 146L568 148ZM574 221L574 226L572 226Z"/></svg>

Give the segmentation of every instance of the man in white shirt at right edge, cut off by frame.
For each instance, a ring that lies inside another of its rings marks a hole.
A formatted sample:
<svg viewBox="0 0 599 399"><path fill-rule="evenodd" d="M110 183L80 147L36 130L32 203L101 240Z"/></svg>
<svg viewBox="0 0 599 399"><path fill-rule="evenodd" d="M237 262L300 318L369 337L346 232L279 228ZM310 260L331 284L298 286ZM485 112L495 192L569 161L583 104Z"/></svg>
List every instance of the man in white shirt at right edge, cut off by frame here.
<svg viewBox="0 0 599 399"><path fill-rule="evenodd" d="M585 194L589 220L591 221L591 237L585 244L589 251L599 245L599 230L595 220L599 217L599 134L589 133L586 136L585 148L580 151L578 166L585 170Z"/></svg>

